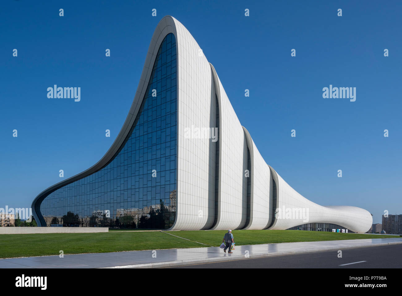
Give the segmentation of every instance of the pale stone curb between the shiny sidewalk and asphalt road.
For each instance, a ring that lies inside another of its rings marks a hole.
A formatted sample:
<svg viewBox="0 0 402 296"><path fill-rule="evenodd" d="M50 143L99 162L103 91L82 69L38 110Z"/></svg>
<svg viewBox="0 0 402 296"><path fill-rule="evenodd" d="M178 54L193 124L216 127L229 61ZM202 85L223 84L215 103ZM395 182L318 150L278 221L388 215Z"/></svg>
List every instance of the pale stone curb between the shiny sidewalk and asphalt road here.
<svg viewBox="0 0 402 296"><path fill-rule="evenodd" d="M249 254L249 256L247 258L244 255L230 255L230 256L225 256L225 257L201 258L201 259L178 260L178 261L164 261L164 262L155 262L155 263L142 263L142 264L99 267L99 268L163 268L163 267L192 265L192 264L197 264L197 263L214 263L214 262L224 262L224 261L232 261L232 260L255 259L255 258L261 258L261 257L274 257L274 256L283 256L283 255L316 253L316 252L339 250L339 249L386 246L386 245L390 245L390 244L402 244L402 242L383 242L383 243L378 243L378 244L370 244L370 245L366 245L366 246L363 245L363 246L345 246L345 247L337 247L337 248L319 248L319 249L310 250L310 251L309 250L300 250L300 251L287 251L287 252L274 252L274 253L260 253L258 255Z"/></svg>

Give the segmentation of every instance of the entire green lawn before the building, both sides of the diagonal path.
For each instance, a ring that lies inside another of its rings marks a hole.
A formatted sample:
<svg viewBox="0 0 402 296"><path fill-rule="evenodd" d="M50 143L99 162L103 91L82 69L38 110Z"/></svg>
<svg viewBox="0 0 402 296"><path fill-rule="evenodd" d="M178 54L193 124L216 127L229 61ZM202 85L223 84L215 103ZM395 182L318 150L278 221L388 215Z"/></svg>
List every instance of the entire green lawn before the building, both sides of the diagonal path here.
<svg viewBox="0 0 402 296"><path fill-rule="evenodd" d="M110 231L85 234L1 234L0 258L59 255L59 250L63 250L66 255L203 247L203 245L197 242L211 246L219 246L226 231L197 230L170 231L168 233L190 240L183 240L182 238L176 238L162 232L138 231ZM236 245L399 237L300 230L234 230L232 233Z"/></svg>

